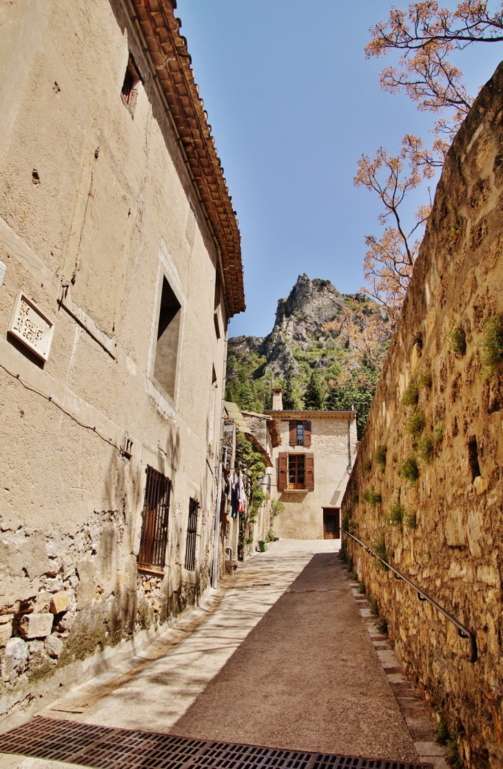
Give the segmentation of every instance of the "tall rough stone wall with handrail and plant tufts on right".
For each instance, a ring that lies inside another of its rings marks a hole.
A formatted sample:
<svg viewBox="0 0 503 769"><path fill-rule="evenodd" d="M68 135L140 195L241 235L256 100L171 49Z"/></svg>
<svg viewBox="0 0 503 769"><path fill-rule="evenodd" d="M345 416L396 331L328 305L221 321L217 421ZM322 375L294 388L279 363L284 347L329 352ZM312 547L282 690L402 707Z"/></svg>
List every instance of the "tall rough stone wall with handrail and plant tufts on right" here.
<svg viewBox="0 0 503 769"><path fill-rule="evenodd" d="M476 634L471 664L456 628L349 540L408 674L469 767L503 764L503 388L483 365L503 312L502 249L500 65L448 152L342 510L350 531L385 542L390 563Z"/></svg>

